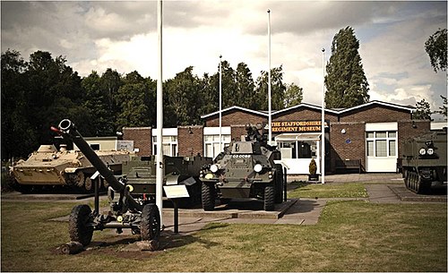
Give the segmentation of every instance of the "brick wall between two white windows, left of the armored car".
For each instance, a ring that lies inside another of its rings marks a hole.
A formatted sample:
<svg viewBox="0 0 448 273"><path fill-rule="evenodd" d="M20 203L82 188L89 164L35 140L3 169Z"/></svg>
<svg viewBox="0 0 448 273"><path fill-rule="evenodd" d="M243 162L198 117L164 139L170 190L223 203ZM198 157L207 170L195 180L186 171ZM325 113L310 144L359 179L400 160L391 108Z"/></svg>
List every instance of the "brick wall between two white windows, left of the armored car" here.
<svg viewBox="0 0 448 273"><path fill-rule="evenodd" d="M179 157L203 156L203 126L178 126L177 144Z"/></svg>

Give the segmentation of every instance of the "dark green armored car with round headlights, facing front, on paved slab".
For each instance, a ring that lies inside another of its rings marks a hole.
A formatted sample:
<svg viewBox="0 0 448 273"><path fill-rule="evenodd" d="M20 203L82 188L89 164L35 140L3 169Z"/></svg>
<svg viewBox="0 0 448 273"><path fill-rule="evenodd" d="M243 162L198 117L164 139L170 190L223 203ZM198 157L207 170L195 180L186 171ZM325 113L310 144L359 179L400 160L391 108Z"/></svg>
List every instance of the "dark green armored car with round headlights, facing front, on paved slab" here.
<svg viewBox="0 0 448 273"><path fill-rule="evenodd" d="M241 141L231 141L213 164L202 168L199 177L204 210L214 209L216 197L263 200L264 210L273 210L275 203L281 203L283 171L274 163L280 160L280 151L267 144L262 124L246 124L246 132Z"/></svg>

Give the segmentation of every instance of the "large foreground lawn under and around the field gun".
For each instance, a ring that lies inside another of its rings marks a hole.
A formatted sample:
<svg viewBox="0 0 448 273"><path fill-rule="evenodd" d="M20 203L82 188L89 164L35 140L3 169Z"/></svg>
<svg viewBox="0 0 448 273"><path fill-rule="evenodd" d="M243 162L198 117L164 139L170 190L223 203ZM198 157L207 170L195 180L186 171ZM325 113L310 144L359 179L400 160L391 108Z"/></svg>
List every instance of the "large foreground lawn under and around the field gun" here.
<svg viewBox="0 0 448 273"><path fill-rule="evenodd" d="M330 201L314 226L212 223L165 251L120 252L136 235L95 232L108 244L56 254L73 203L2 201L2 271L444 271L446 204ZM134 238L134 239L133 239Z"/></svg>

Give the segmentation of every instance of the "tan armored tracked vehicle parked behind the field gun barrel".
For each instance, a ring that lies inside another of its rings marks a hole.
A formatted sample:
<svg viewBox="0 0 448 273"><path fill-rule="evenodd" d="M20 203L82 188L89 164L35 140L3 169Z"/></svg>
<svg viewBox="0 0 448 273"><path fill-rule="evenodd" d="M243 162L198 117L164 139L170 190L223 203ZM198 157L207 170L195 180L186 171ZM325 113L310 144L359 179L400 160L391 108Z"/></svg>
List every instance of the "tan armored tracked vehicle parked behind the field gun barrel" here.
<svg viewBox="0 0 448 273"><path fill-rule="evenodd" d="M98 150L99 158L114 172L121 175L122 163L129 160L125 150ZM96 169L78 150L67 150L61 145L41 145L27 160L19 160L10 168L15 179L13 187L19 192L39 192L44 188L69 187L75 192L91 192L90 176Z"/></svg>

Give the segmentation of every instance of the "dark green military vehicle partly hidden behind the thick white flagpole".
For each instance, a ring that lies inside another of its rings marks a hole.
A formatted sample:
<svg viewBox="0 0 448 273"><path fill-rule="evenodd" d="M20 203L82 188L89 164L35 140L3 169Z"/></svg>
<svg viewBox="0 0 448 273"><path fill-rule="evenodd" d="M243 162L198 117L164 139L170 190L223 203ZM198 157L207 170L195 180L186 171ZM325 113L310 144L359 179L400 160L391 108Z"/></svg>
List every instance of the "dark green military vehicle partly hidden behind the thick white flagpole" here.
<svg viewBox="0 0 448 273"><path fill-rule="evenodd" d="M164 185L185 184L189 198L177 199L179 207L192 207L201 202L199 172L203 165L210 165L212 158L163 157ZM134 197L154 198L156 194L156 157L131 157L123 163L123 175L127 184L134 187Z"/></svg>

